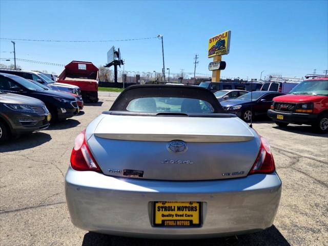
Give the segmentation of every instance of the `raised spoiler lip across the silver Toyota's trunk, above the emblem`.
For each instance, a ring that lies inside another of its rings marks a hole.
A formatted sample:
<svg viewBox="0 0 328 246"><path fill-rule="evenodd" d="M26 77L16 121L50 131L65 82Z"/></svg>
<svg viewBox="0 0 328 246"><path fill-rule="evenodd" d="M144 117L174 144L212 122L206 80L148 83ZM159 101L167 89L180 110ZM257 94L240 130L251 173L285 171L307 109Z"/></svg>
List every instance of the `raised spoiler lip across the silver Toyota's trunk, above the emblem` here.
<svg viewBox="0 0 328 246"><path fill-rule="evenodd" d="M197 143L224 143L246 142L254 139L249 135L188 135L188 134L119 134L119 133L94 133L95 137L112 140L147 141L147 142L170 142L182 140Z"/></svg>

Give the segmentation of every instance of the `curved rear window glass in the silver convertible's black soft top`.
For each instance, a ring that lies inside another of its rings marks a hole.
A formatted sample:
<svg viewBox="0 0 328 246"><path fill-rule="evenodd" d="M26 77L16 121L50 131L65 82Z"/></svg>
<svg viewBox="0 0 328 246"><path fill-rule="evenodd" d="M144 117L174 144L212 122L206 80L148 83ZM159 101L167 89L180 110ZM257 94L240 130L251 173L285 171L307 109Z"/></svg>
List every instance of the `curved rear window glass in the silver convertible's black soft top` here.
<svg viewBox="0 0 328 246"><path fill-rule="evenodd" d="M210 103L194 98L149 97L130 101L127 108L132 112L213 113Z"/></svg>

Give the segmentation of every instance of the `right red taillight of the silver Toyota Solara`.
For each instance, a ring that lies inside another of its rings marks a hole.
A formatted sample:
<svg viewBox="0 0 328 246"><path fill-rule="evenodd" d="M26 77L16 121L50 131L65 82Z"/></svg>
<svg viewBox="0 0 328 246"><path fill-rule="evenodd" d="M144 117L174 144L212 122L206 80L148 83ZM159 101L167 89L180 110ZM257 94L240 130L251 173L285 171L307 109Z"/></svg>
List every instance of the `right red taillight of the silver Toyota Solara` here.
<svg viewBox="0 0 328 246"><path fill-rule="evenodd" d="M270 174L275 169L275 161L271 153L270 144L267 139L261 137L260 151L249 174Z"/></svg>

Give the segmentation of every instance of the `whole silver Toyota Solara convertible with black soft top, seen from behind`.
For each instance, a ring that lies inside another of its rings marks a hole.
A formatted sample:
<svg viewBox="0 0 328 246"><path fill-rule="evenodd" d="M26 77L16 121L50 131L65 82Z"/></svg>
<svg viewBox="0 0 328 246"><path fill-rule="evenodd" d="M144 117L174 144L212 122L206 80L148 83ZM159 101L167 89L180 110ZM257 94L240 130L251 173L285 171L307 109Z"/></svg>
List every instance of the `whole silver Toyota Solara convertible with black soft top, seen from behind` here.
<svg viewBox="0 0 328 246"><path fill-rule="evenodd" d="M281 181L268 141L212 92L138 85L76 137L65 189L80 229L204 238L269 228Z"/></svg>

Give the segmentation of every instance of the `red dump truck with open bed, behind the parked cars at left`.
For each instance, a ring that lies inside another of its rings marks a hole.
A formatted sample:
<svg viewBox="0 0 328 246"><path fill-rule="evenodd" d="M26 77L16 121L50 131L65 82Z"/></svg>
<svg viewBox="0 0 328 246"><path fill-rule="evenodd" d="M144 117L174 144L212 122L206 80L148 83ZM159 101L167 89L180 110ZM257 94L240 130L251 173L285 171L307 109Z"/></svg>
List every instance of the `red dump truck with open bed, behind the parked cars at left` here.
<svg viewBox="0 0 328 246"><path fill-rule="evenodd" d="M57 82L76 85L85 102L98 102L99 69L91 62L72 61L58 75Z"/></svg>

